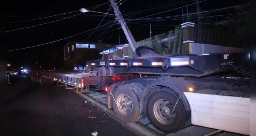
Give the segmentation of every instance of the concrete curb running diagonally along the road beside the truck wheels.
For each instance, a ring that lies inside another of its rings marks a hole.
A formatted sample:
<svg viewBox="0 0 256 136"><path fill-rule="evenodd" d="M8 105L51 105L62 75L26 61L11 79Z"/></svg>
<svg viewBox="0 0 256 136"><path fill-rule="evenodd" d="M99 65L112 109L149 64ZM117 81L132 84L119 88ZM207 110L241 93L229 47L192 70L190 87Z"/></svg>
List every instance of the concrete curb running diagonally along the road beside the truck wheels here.
<svg viewBox="0 0 256 136"><path fill-rule="evenodd" d="M111 115L112 117L115 118L116 121L121 123L123 126L125 126L127 129L135 132L136 134L140 136L157 136L155 133L143 128L141 125L133 122L133 123L124 123L123 121L119 120L117 116L115 115L113 110L108 109L107 107L103 106L102 104L98 103L97 101L93 100L92 98L77 93L75 90L73 90L76 94L78 94L80 97L86 99L87 101L91 102L92 104L96 105L97 107L101 108L104 110L107 114Z"/></svg>

